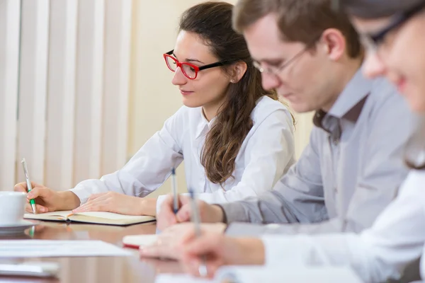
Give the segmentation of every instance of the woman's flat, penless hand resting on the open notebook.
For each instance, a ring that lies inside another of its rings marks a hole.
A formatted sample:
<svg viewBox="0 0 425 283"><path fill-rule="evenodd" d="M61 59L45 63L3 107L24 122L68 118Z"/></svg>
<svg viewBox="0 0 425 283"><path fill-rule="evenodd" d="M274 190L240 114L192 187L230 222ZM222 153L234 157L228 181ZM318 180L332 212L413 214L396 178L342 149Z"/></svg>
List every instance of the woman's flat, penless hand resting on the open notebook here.
<svg viewBox="0 0 425 283"><path fill-rule="evenodd" d="M156 207L156 199L132 197L118 192L101 192L89 197L89 200L81 207L72 212L114 212L126 215L155 215L155 210L149 211L149 207ZM149 213L150 212L150 213Z"/></svg>

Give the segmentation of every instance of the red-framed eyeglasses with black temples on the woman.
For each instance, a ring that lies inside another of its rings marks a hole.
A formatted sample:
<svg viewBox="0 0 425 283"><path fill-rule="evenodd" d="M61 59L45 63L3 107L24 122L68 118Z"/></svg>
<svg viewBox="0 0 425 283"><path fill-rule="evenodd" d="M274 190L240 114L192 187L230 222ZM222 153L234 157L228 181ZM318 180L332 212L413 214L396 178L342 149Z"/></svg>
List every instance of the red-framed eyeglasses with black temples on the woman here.
<svg viewBox="0 0 425 283"><path fill-rule="evenodd" d="M196 79L196 76L198 76L198 71L202 71L205 69L210 69L210 68L214 68L214 67L219 67L219 66L225 66L227 64L232 64L234 62L237 62L238 59L227 59L227 60L222 60L219 62L215 62L212 64L208 64L205 66L195 66L191 63L181 63L179 62L179 60L177 60L176 58L174 58L173 56L171 56L171 54L173 54L174 50L171 50L170 52L166 52L164 54L164 59L165 59L165 63L166 66L170 69L170 71L176 71L177 68L180 67L183 75L186 76L186 78L188 79Z"/></svg>

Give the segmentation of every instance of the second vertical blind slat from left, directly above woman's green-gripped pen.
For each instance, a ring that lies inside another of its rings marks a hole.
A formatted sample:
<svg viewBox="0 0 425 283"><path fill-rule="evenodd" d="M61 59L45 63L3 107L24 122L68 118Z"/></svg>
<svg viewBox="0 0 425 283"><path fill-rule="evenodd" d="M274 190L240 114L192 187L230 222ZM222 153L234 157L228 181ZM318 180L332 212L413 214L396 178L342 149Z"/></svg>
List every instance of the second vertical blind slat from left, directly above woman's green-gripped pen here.
<svg viewBox="0 0 425 283"><path fill-rule="evenodd" d="M49 0L23 0L19 73L18 154L32 180L44 180ZM20 165L20 164L19 164ZM21 169L21 167L19 167ZM18 180L23 171L18 170Z"/></svg>

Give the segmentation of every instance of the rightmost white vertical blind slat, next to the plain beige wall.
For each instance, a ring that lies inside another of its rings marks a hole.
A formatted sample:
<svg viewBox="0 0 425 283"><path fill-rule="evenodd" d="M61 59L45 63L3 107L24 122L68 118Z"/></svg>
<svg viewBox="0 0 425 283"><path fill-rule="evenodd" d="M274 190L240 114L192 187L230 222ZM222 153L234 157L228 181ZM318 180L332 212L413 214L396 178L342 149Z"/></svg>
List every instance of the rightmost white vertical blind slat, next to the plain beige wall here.
<svg viewBox="0 0 425 283"><path fill-rule="evenodd" d="M107 0L103 79L102 171L113 172L127 158L131 0Z"/></svg>

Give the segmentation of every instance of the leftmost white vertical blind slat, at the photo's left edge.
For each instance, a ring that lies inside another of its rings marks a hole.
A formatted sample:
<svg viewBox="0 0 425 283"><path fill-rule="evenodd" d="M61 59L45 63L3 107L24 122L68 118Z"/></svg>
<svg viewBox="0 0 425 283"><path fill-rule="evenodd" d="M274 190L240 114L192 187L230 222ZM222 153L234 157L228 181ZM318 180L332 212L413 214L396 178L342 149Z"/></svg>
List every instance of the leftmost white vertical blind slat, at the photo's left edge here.
<svg viewBox="0 0 425 283"><path fill-rule="evenodd" d="M20 18L20 1L0 2L0 190L15 185Z"/></svg>

